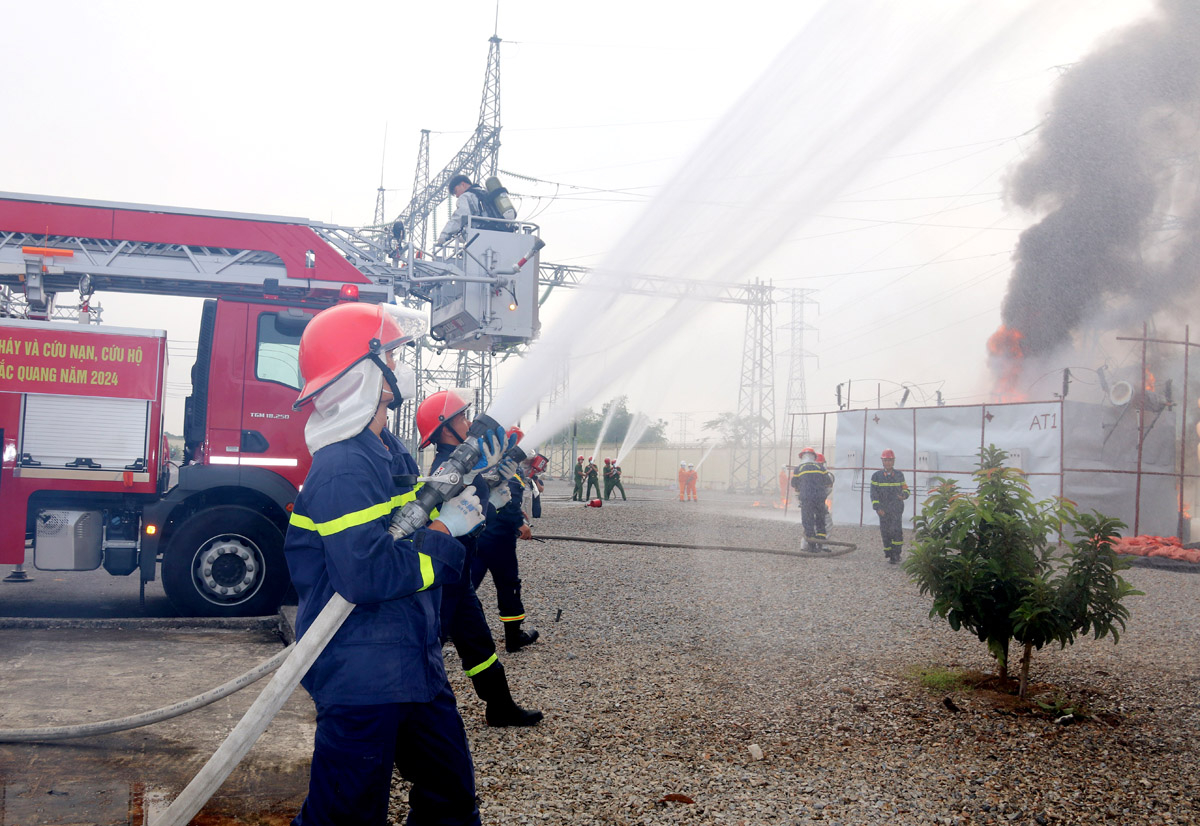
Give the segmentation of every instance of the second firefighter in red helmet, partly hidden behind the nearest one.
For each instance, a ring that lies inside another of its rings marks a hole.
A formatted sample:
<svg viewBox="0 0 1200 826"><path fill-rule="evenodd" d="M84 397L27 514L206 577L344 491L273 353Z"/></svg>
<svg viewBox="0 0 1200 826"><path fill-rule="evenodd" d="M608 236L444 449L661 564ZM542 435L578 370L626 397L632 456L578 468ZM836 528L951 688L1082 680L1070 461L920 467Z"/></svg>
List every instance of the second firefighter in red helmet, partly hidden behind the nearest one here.
<svg viewBox="0 0 1200 826"><path fill-rule="evenodd" d="M416 431L420 433L420 447L436 445L437 453L430 472L433 473L450 457L454 449L467 438L470 421L467 411L470 402L466 394L457 390L439 390L433 393L416 408ZM511 466L509 465L511 462ZM509 477L516 472L512 460L500 465L500 475ZM480 501L488 501L500 507L508 503L511 492L508 484L502 484L496 491L476 478L475 491ZM442 635L450 638L455 651L462 660L462 669L470 677L475 694L486 704L484 718L488 725L536 725L542 713L527 711L512 699L504 665L496 656L496 641L492 629L484 616L484 606L475 595L470 582L470 570L479 552L475 537L462 537L460 541L467 549L464 576L458 582L442 586Z"/></svg>

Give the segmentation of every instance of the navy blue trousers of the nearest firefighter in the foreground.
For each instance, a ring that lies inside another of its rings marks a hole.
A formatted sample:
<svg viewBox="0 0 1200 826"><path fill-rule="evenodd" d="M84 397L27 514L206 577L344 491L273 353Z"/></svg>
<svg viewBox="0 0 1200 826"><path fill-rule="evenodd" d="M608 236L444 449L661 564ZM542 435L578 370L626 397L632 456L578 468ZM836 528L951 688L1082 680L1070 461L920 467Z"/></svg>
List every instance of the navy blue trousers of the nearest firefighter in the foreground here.
<svg viewBox="0 0 1200 826"><path fill-rule="evenodd" d="M449 683L432 702L317 704L308 797L293 826L385 826L391 767L408 826L479 826L475 768Z"/></svg>

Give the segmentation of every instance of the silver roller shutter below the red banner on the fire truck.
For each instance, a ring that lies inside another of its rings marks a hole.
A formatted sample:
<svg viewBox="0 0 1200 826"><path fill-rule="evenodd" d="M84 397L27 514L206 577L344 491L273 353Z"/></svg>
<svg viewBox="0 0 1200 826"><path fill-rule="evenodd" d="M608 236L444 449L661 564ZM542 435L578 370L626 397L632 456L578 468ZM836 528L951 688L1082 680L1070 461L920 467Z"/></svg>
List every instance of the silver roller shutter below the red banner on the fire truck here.
<svg viewBox="0 0 1200 826"><path fill-rule="evenodd" d="M25 396L20 432L23 463L78 469L144 469L149 455L150 402L30 393Z"/></svg>

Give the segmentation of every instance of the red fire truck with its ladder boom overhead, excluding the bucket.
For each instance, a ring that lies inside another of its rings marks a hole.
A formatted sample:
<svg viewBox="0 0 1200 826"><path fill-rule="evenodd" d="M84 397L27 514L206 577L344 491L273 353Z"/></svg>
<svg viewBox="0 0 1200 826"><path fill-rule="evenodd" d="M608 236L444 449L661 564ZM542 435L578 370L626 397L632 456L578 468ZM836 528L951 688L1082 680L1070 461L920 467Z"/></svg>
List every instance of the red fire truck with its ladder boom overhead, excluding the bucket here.
<svg viewBox="0 0 1200 826"><path fill-rule="evenodd" d="M300 333L337 301L391 300L397 273L302 219L0 193L0 564L31 551L37 569L137 571L144 589L161 562L186 616L277 610L311 461ZM178 478L167 334L88 323L94 291L205 298Z"/></svg>

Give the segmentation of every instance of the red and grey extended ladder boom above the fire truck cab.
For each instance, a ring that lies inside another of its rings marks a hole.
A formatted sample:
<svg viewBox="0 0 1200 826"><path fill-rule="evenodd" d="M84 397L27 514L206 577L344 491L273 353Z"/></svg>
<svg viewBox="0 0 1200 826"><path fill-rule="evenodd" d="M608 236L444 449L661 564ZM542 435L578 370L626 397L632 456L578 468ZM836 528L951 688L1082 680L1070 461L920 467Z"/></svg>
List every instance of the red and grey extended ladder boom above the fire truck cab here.
<svg viewBox="0 0 1200 826"><path fill-rule="evenodd" d="M350 283L386 301L398 273L385 250L335 225L0 192L4 315L54 316L54 295L74 291L260 298Z"/></svg>

